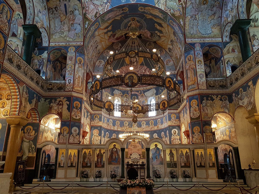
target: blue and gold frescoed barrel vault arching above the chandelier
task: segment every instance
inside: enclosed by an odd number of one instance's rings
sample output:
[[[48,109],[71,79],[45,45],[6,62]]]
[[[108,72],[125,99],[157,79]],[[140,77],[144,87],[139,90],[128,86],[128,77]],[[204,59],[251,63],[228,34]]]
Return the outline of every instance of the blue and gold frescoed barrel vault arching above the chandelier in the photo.
[[[147,14],[145,10],[150,12]],[[136,13],[137,12],[137,13]],[[117,6],[95,20],[85,36],[87,62],[94,70],[95,62],[113,43],[129,38],[128,26],[136,18],[139,38],[163,48],[178,66],[182,61],[184,36],[180,25],[163,10],[148,5]]]

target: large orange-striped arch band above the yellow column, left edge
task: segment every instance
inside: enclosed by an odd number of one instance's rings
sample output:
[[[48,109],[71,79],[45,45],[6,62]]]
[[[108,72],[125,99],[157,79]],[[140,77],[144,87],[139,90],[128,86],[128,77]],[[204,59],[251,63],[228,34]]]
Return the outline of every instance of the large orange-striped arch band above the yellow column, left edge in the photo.
[[[6,81],[11,93],[11,108],[9,115],[16,116],[19,114],[20,106],[20,92],[18,85],[14,78],[6,73],[2,73],[1,77]]]

